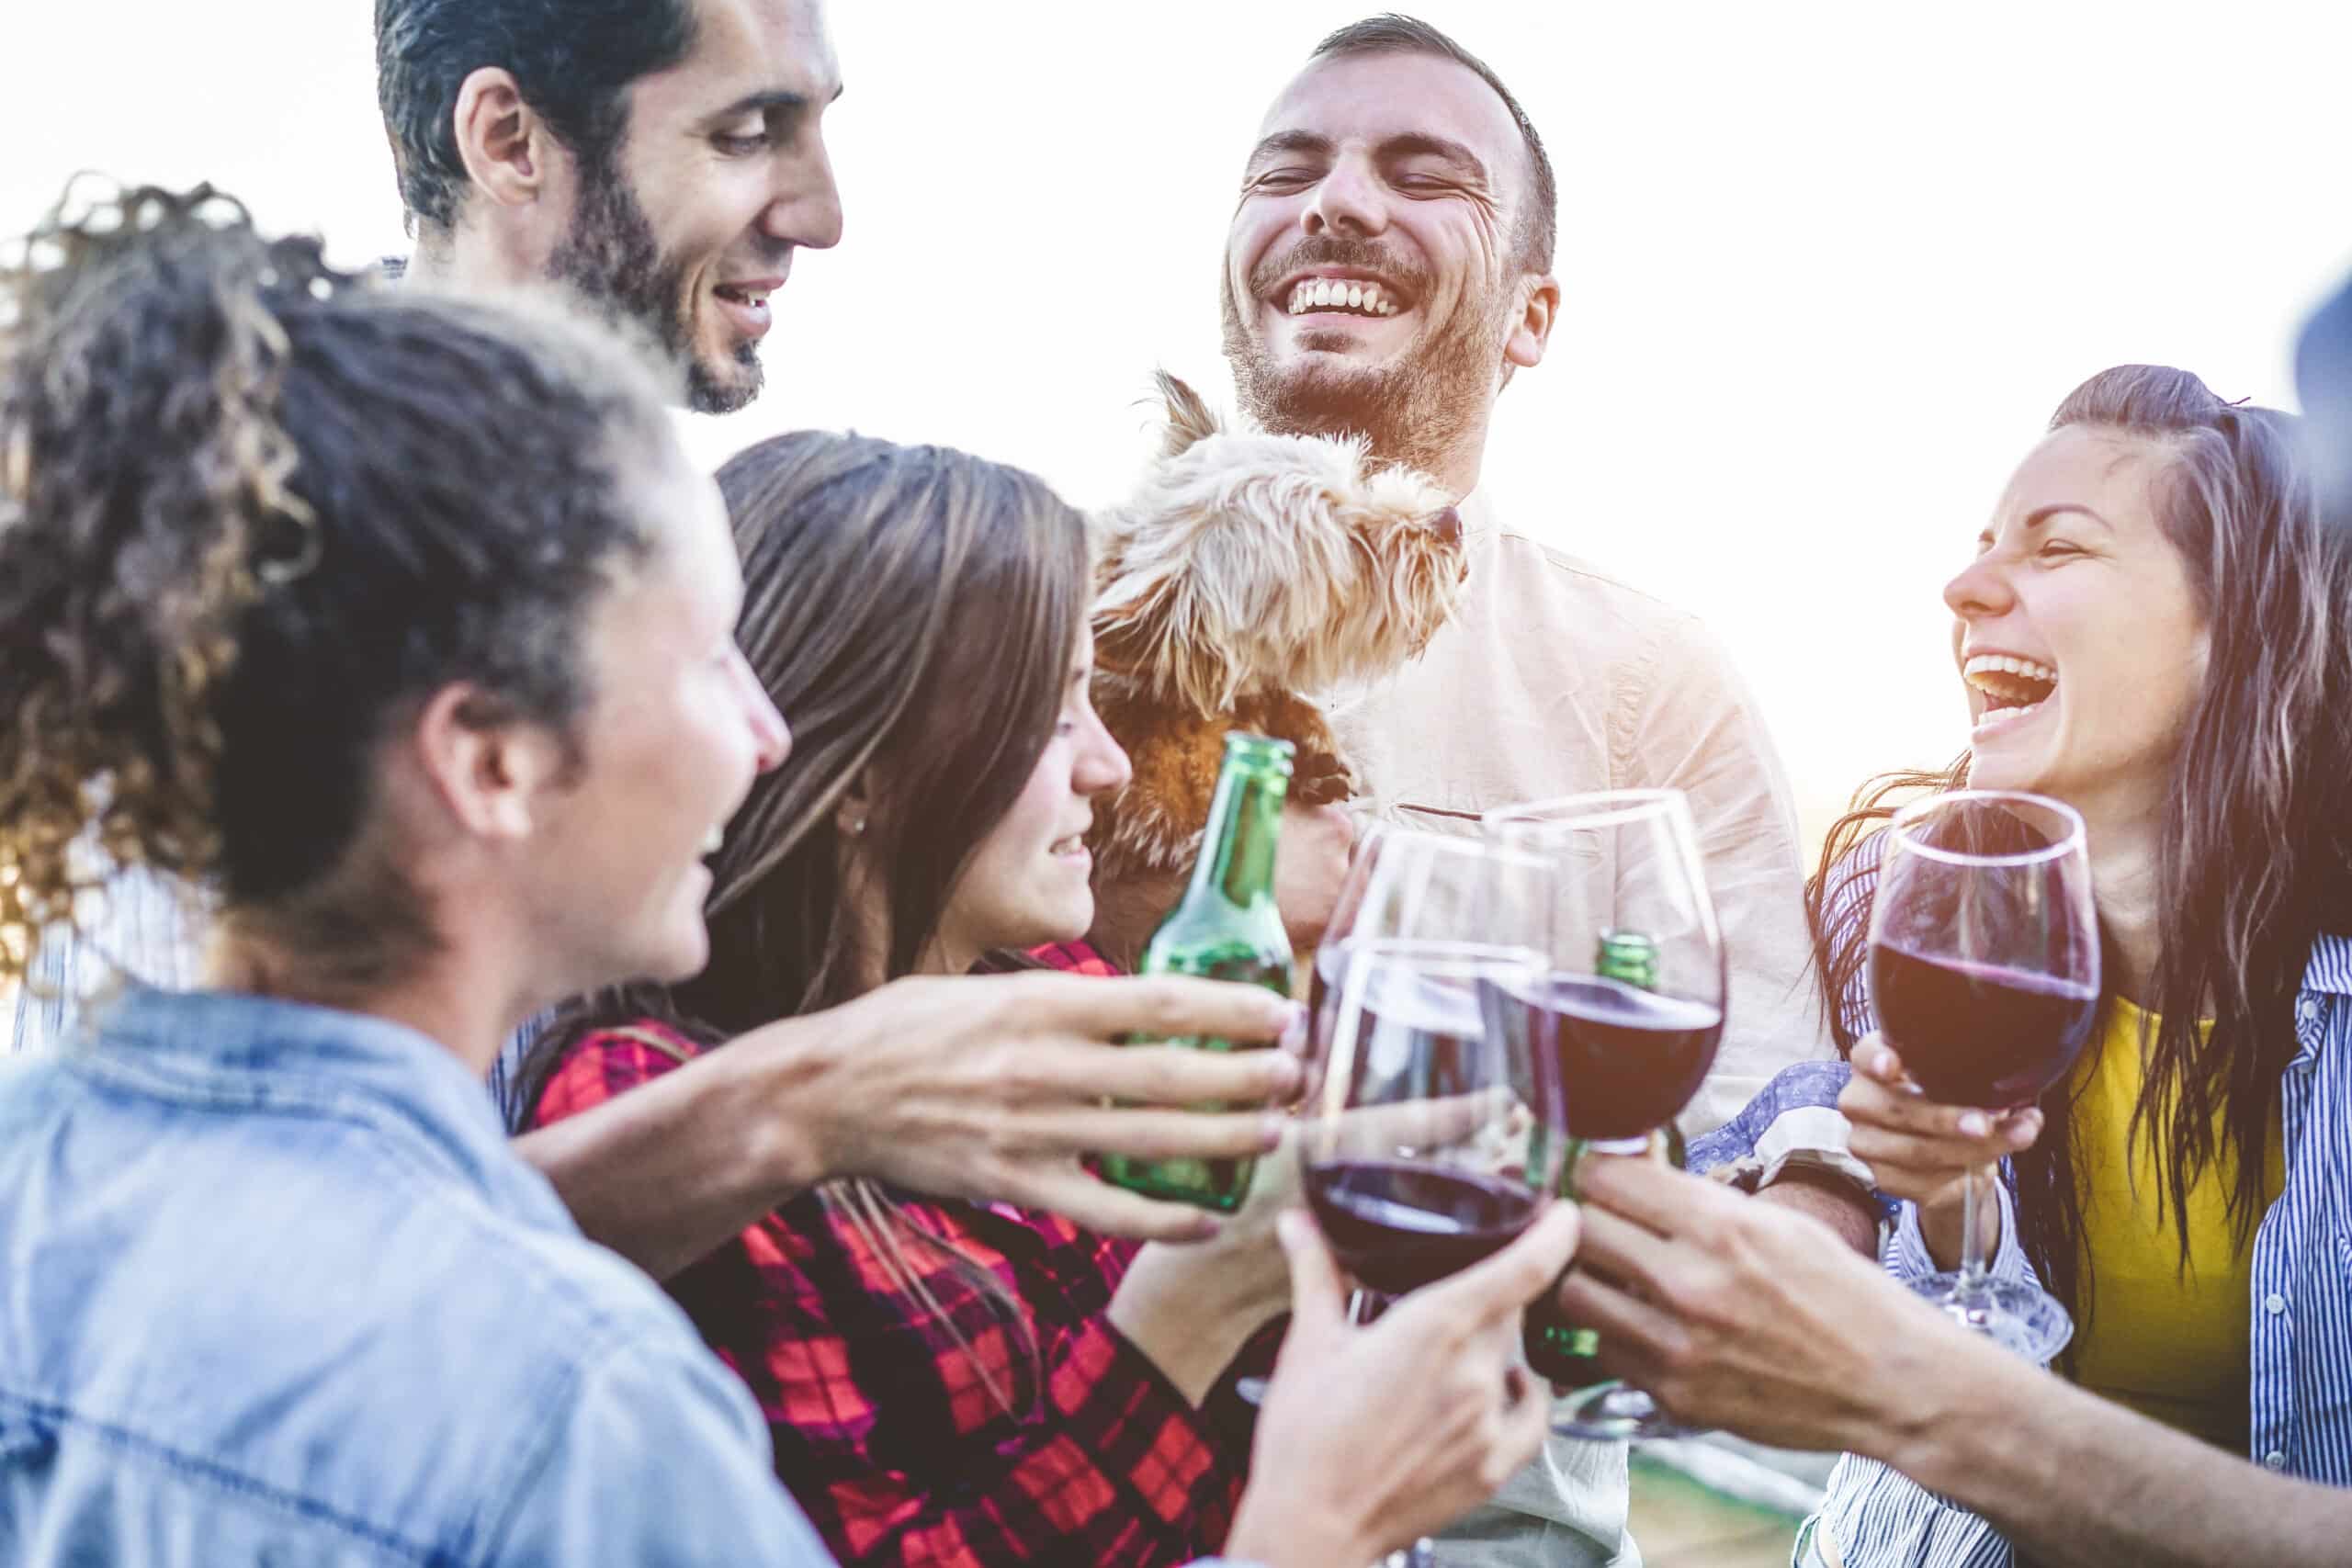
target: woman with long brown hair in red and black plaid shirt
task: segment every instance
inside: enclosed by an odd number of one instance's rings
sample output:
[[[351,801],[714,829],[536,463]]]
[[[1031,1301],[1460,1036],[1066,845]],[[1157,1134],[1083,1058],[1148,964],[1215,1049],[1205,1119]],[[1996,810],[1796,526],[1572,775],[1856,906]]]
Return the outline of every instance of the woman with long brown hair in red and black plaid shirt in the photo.
[[[713,860],[710,966],[557,1023],[524,1072],[536,1124],[771,1018],[1094,917],[1091,797],[1127,757],[1087,698],[1082,517],[1011,468],[814,433],[753,447],[720,489],[743,649],[793,715],[793,759]],[[1240,1495],[1244,1455],[1197,1406],[1287,1305],[1270,1211],[1136,1251],[835,1180],[670,1291],[847,1561],[1181,1563]]]

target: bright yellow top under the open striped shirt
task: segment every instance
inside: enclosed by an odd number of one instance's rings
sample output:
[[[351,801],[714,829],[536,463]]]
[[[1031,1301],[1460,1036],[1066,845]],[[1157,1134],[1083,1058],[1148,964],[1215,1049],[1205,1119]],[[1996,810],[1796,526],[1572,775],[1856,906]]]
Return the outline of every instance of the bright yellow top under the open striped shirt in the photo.
[[[2074,1338],[2074,1378],[2230,1453],[2246,1453],[2253,1354],[2253,1229],[2230,1227],[2237,1159],[2227,1150],[2190,1182],[2190,1267],[2143,1128],[2126,1150],[2157,1016],[2114,999],[2105,1039],[2074,1067],[2074,1173],[2084,1204],[2084,1279],[2096,1281]],[[2279,1114],[2263,1138],[2263,1204],[2286,1185]],[[2159,1199],[2164,1199],[2159,1204]],[[2161,1213],[2159,1213],[2161,1208]],[[2260,1225],[2260,1213],[2253,1215]]]

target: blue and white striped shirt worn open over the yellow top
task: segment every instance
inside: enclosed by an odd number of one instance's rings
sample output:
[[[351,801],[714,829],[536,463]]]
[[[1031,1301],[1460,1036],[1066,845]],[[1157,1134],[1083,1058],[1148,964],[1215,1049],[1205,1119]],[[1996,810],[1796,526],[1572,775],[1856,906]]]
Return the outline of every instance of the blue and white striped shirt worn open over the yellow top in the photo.
[[[2253,1234],[2251,1453],[2267,1469],[2352,1486],[2352,940],[2321,936],[2296,997],[2296,1056],[2279,1079],[2286,1187]],[[1886,1248],[1898,1279],[1931,1274],[1919,1218]],[[2002,1192],[1992,1272],[2030,1279]],[[1818,1533],[1818,1535],[1816,1535]],[[1825,1540],[1823,1540],[1825,1537]],[[2009,1568],[2009,1542],[1907,1476],[1846,1455],[1799,1563]]]

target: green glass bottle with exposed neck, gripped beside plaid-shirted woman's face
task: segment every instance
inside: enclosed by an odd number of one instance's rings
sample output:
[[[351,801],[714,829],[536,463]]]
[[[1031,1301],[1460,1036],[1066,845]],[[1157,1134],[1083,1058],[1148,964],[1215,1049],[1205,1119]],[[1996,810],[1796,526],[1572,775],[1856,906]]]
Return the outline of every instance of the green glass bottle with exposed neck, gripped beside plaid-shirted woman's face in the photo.
[[[1275,846],[1282,799],[1291,788],[1291,743],[1235,731],[1225,736],[1225,766],[1216,776],[1209,825],[1200,839],[1192,882],[1143,945],[1145,976],[1207,976],[1291,994],[1291,936],[1275,907]],[[1138,1037],[1131,1044],[1157,1044]],[[1228,1039],[1200,1034],[1167,1044],[1232,1051]],[[1197,1110],[1223,1110],[1202,1105]],[[1249,1194],[1256,1159],[1124,1159],[1103,1157],[1103,1178],[1155,1199],[1232,1213]]]

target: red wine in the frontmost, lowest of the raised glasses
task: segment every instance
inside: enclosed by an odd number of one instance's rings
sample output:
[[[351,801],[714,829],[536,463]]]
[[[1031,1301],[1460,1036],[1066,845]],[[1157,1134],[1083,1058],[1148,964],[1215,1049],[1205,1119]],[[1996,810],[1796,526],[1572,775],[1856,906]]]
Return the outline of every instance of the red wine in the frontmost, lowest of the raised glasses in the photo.
[[[1404,1295],[1468,1269],[1536,1218],[1524,1180],[1395,1159],[1308,1166],[1308,1206],[1331,1255],[1367,1291]]]

